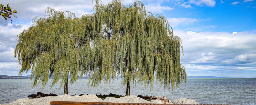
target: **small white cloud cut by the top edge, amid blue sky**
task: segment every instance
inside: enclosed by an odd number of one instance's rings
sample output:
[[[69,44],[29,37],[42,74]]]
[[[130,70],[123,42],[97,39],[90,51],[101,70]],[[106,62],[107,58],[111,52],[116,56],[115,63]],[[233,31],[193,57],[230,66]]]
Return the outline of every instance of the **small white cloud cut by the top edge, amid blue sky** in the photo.
[[[216,4],[215,0],[189,0],[189,3],[195,4],[196,6],[214,7]]]

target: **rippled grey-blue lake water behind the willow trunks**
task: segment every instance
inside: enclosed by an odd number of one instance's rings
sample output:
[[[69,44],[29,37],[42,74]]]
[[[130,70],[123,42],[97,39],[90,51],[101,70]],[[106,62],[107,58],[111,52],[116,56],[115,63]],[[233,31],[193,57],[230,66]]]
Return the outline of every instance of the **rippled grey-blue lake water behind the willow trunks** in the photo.
[[[120,85],[121,79],[109,84],[102,83],[93,88],[88,87],[88,79],[81,79],[73,85],[68,85],[68,94],[106,94],[125,95],[126,86]],[[41,87],[31,88],[29,79],[0,79],[0,104],[10,103],[19,98],[27,98],[30,94],[41,92]],[[61,95],[64,88],[58,90],[59,84],[50,89],[51,82],[42,91],[45,94]],[[177,89],[164,91],[157,83],[153,91],[143,86],[131,85],[131,95],[167,96],[170,100],[178,98],[193,99],[200,104],[256,104],[256,79],[188,79],[186,85]]]

